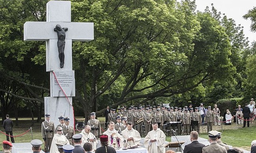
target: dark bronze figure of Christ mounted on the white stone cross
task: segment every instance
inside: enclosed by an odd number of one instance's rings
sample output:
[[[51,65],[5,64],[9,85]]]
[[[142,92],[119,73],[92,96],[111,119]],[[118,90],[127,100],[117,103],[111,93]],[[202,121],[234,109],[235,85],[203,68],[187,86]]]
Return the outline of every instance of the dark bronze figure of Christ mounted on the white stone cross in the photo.
[[[64,54],[65,39],[66,39],[65,31],[68,31],[68,28],[61,28],[61,25],[57,24],[56,27],[54,28],[54,31],[56,31],[58,35],[57,46],[58,46],[58,52],[59,52],[60,67],[63,68],[64,60],[65,60],[65,54]]]

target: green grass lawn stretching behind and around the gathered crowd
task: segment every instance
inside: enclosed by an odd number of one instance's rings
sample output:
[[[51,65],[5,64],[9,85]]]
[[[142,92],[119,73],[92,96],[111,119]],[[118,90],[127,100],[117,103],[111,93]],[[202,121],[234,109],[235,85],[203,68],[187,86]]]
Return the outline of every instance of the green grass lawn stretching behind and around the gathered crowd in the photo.
[[[43,118],[42,118],[43,119]],[[76,117],[77,120],[84,120],[82,117]],[[13,119],[12,119],[13,120]],[[98,117],[98,120],[101,122],[102,129],[104,129],[104,122],[105,117]],[[14,124],[15,124],[15,120]],[[256,139],[256,136],[254,135],[254,131],[256,131],[256,126],[254,126],[255,123],[250,124],[251,127],[241,128],[241,126],[238,127],[238,129],[235,129],[235,124],[231,126],[224,126],[223,125],[223,132],[222,132],[222,142],[227,143],[229,145],[232,145],[234,147],[243,148],[245,150],[250,150],[251,141]],[[25,131],[27,131],[31,127],[31,119],[30,118],[20,118],[19,119],[19,127],[14,126],[13,128],[13,135],[17,136],[20,134],[23,134]],[[220,127],[213,127],[214,130],[221,131],[220,129],[217,129]],[[0,130],[4,132],[3,127],[0,127]],[[5,132],[4,132],[5,133]],[[76,133],[80,133],[79,131],[76,131]],[[31,130],[27,132],[27,134],[24,134],[23,136],[15,137],[15,142],[30,142],[33,139],[39,139],[43,141],[42,135],[41,135],[41,122],[37,123],[35,122],[34,126],[32,126],[32,132]],[[208,135],[206,133],[199,135],[202,138],[208,139]],[[6,140],[6,136],[2,133],[0,133],[0,140]],[[170,136],[166,136],[166,141],[171,141]],[[44,146],[42,146],[44,148]],[[0,147],[0,151],[2,151],[2,147]]]

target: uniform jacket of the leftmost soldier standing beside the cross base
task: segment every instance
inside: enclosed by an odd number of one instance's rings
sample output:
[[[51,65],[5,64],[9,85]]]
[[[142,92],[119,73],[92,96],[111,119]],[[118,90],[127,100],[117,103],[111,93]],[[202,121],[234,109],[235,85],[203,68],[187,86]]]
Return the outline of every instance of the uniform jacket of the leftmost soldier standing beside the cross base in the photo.
[[[41,133],[43,138],[53,138],[55,134],[55,127],[54,127],[54,122],[47,121],[42,122],[41,124]]]

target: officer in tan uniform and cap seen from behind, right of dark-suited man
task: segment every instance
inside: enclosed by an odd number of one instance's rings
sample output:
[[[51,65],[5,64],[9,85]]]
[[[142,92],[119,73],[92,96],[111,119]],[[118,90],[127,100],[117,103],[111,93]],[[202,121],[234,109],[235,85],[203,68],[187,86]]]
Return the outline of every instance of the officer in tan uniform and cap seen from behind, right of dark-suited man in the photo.
[[[216,131],[208,132],[210,145],[202,148],[202,153],[227,153],[226,148],[217,143],[218,134]]]

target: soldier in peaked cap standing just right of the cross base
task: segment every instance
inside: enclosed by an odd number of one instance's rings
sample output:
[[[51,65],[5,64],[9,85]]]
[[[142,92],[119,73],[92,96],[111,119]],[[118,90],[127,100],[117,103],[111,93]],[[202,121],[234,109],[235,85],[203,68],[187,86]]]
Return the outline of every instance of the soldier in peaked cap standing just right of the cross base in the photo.
[[[90,113],[91,119],[88,120],[87,125],[91,127],[91,133],[98,138],[101,135],[101,128],[100,128],[100,121],[95,119],[96,114],[95,112]]]

